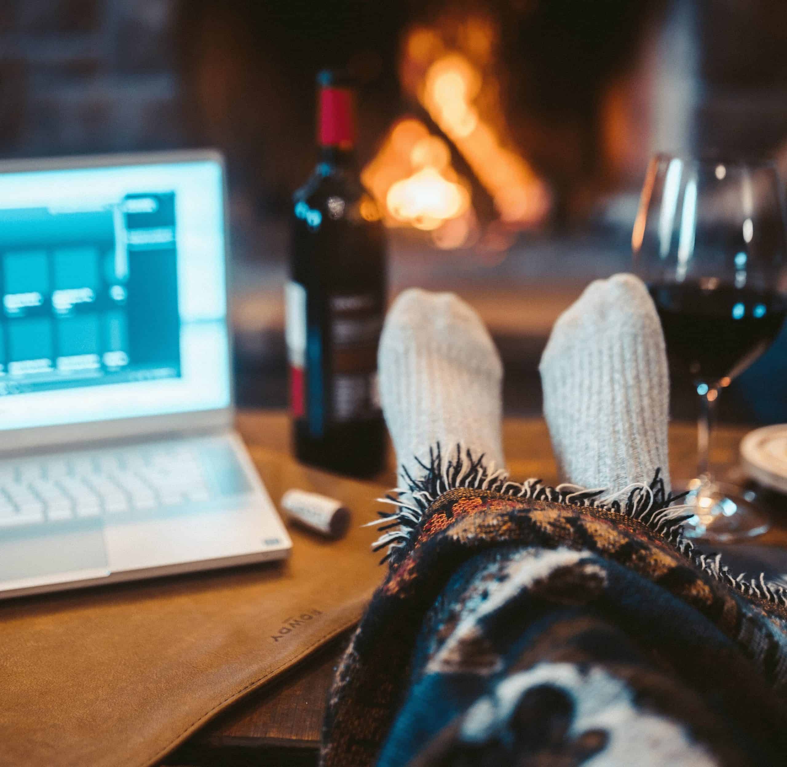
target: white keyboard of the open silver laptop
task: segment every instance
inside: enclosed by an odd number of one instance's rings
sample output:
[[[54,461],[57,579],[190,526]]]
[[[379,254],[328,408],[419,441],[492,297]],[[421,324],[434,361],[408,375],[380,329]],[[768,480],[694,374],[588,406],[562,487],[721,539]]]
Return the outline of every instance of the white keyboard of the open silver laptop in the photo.
[[[221,437],[0,461],[0,529],[190,508],[250,489]]]

